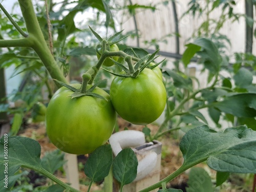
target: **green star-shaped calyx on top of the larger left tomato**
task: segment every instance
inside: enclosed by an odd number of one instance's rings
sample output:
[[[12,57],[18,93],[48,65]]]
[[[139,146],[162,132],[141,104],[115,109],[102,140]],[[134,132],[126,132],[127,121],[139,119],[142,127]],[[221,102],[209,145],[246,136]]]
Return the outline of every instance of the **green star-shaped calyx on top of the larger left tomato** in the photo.
[[[64,86],[66,88],[68,88],[69,90],[73,91],[74,93],[72,95],[70,95],[70,97],[73,98],[79,98],[79,97],[83,97],[83,96],[93,96],[93,97],[97,97],[103,100],[108,101],[108,99],[104,98],[103,96],[97,94],[97,93],[93,93],[93,90],[102,82],[106,81],[107,79],[103,79],[97,83],[95,83],[89,90],[87,90],[86,92],[81,92],[82,89],[76,89],[72,86],[70,86],[69,84],[63,83],[61,81],[58,81],[57,79],[53,79],[55,80],[57,83],[61,84],[61,86]]]

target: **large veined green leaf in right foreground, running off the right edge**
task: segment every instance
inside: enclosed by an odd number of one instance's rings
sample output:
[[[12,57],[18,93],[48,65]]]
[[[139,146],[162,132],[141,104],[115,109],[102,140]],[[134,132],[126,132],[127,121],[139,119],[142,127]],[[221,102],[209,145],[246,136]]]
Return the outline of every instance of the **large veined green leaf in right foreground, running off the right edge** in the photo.
[[[256,132],[246,126],[210,133],[207,125],[188,131],[180,142],[184,166],[207,160],[219,172],[256,173]]]

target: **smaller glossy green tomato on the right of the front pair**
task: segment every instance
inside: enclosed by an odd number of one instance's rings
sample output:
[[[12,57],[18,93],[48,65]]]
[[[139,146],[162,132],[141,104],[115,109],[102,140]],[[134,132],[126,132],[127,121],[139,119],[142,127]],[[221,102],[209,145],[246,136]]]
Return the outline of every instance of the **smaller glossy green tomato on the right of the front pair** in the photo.
[[[148,124],[162,114],[166,91],[162,80],[146,68],[137,78],[115,77],[110,87],[110,98],[123,119],[133,124]]]

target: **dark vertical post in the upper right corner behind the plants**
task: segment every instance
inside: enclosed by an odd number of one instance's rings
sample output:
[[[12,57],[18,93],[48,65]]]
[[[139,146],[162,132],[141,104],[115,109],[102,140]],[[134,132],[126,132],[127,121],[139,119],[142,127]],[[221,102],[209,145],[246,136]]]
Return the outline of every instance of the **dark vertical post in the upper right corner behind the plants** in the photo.
[[[245,14],[247,17],[253,18],[253,3],[252,0],[245,0]],[[245,52],[252,53],[252,40],[253,40],[253,23],[251,26],[246,24],[245,36]]]

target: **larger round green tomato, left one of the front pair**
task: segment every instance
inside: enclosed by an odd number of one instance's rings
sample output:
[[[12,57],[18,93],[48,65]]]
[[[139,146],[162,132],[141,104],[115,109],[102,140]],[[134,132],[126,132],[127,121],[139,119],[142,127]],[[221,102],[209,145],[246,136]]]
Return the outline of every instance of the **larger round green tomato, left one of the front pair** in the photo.
[[[79,89],[81,84],[71,86]],[[93,93],[108,101],[93,96],[72,99],[72,93],[62,87],[53,95],[46,112],[46,131],[61,151],[88,154],[108,141],[116,123],[116,112],[109,94],[100,88],[95,88]]]

